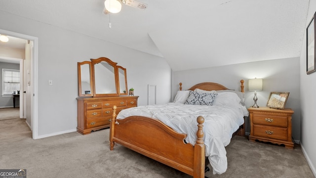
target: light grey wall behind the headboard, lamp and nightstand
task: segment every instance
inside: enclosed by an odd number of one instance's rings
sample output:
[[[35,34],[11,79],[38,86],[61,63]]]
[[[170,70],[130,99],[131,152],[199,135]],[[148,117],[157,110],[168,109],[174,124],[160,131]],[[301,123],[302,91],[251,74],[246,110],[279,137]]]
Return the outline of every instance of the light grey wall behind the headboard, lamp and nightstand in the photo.
[[[263,90],[257,91],[259,106],[266,106],[270,92],[288,91],[290,95],[285,107],[292,108],[292,136],[299,142],[300,140],[300,77],[299,58],[286,58],[277,60],[267,60],[260,62],[250,62],[242,64],[227,65],[196,70],[186,70],[174,72],[173,74],[173,94],[179,89],[182,82],[182,89],[189,89],[193,85],[201,82],[215,82],[222,84],[229,89],[240,91],[240,80],[244,80],[244,91],[246,94],[246,107],[252,106],[253,91],[248,91],[248,79],[262,78]],[[246,132],[249,133],[249,124],[246,121]]]

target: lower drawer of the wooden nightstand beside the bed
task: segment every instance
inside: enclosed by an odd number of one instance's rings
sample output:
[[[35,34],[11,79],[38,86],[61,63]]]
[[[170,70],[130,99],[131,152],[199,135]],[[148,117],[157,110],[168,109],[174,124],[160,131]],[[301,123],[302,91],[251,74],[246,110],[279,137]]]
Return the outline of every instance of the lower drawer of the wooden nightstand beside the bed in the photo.
[[[253,135],[287,140],[287,128],[253,125]]]

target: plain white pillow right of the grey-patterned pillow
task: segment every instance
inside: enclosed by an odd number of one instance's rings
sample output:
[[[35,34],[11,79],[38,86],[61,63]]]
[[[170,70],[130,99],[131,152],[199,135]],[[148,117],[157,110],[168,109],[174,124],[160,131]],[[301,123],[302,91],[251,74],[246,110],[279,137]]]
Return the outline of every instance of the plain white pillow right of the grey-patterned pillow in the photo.
[[[240,98],[234,92],[218,92],[213,105],[239,105]]]

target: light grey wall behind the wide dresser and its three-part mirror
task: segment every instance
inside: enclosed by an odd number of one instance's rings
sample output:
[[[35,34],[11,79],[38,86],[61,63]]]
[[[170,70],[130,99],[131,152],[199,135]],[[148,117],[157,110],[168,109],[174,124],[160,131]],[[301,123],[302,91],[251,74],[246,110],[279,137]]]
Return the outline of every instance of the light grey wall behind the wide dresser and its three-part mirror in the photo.
[[[140,96],[138,105],[147,104],[148,84],[157,85],[158,103],[170,100],[171,69],[161,57],[3,11],[0,22],[0,29],[39,39],[39,93],[35,93],[39,98],[39,137],[76,131],[77,62],[90,58],[108,57],[126,68],[128,88]],[[53,81],[52,86],[48,80]]]

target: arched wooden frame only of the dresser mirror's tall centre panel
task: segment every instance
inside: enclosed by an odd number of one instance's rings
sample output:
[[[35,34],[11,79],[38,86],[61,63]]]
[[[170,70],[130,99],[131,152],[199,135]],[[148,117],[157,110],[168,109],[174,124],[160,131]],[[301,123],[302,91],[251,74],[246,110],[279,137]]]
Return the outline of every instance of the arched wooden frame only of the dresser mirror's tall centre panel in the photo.
[[[116,89],[116,93],[96,93],[96,88],[95,88],[95,65],[99,64],[100,62],[105,61],[107,62],[109,65],[111,65],[114,69],[114,78],[115,78],[115,89]],[[98,59],[91,59],[91,63],[92,63],[92,79],[93,79],[93,90],[94,90],[94,94],[93,96],[95,97],[105,97],[105,96],[118,96],[119,95],[119,86],[118,86],[118,69],[117,69],[117,64],[116,62],[113,62],[111,59],[106,58],[106,57],[100,57]]]

